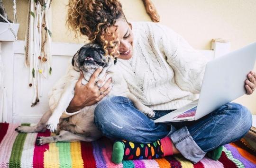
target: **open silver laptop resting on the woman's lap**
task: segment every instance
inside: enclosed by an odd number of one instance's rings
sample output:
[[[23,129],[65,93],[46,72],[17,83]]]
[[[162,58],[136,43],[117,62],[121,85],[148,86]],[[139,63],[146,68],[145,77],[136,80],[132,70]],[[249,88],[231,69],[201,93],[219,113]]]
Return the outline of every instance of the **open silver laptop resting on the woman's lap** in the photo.
[[[246,93],[247,74],[256,61],[256,42],[211,60],[205,67],[198,100],[155,120],[155,123],[197,120]]]

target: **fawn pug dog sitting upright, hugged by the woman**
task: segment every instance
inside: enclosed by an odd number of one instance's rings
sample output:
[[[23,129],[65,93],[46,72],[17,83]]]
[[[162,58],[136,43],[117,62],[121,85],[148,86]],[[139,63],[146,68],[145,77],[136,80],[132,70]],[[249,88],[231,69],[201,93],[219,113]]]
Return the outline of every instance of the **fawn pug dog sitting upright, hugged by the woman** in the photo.
[[[37,145],[71,141],[91,142],[99,139],[102,134],[93,123],[93,118],[94,109],[101,101],[94,105],[86,106],[75,113],[67,113],[65,111],[73,99],[75,84],[80,77],[79,72],[82,71],[84,76],[82,84],[87,84],[91,75],[99,67],[103,69],[96,80],[96,84],[104,76],[106,76],[105,81],[109,78],[112,79],[112,89],[103,99],[110,96],[127,97],[139,111],[151,118],[154,117],[155,112],[138,101],[129,92],[127,83],[119,73],[117,66],[115,66],[116,61],[110,56],[105,56],[103,48],[98,44],[88,43],[82,46],[73,56],[72,65],[69,65],[66,75],[50,91],[50,110],[43,115],[36,126],[18,126],[16,131],[22,133],[44,132],[48,128],[51,132],[58,134],[50,137],[38,137]]]

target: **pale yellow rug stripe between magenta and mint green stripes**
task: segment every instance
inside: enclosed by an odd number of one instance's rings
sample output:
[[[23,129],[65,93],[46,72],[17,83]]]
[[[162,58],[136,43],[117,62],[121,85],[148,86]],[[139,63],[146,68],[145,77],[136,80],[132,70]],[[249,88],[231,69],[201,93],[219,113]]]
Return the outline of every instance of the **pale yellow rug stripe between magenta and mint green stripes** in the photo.
[[[51,136],[54,136],[54,133],[51,133]],[[59,148],[56,146],[56,143],[49,143],[49,150],[44,153],[44,168],[59,168]]]

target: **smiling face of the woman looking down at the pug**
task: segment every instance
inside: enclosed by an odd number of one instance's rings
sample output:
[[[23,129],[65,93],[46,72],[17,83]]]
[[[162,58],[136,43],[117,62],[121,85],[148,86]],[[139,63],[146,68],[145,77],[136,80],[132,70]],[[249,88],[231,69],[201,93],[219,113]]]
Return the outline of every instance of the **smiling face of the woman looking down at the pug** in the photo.
[[[114,40],[113,43],[119,46],[117,50],[119,51],[119,59],[130,59],[133,53],[133,33],[132,27],[124,19],[120,18],[116,21],[115,26],[110,27],[110,32],[113,34],[119,34],[118,39]],[[105,37],[106,40],[110,39],[108,36]],[[109,53],[113,48],[109,47]]]

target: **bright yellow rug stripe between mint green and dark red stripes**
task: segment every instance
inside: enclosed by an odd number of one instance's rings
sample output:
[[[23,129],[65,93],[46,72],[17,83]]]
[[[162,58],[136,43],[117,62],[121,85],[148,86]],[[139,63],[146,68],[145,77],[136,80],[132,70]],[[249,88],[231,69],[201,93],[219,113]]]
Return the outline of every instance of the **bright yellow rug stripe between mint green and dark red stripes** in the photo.
[[[72,159],[72,168],[82,168],[83,160],[82,160],[81,143],[80,142],[70,143],[70,153],[71,153],[71,159]]]

